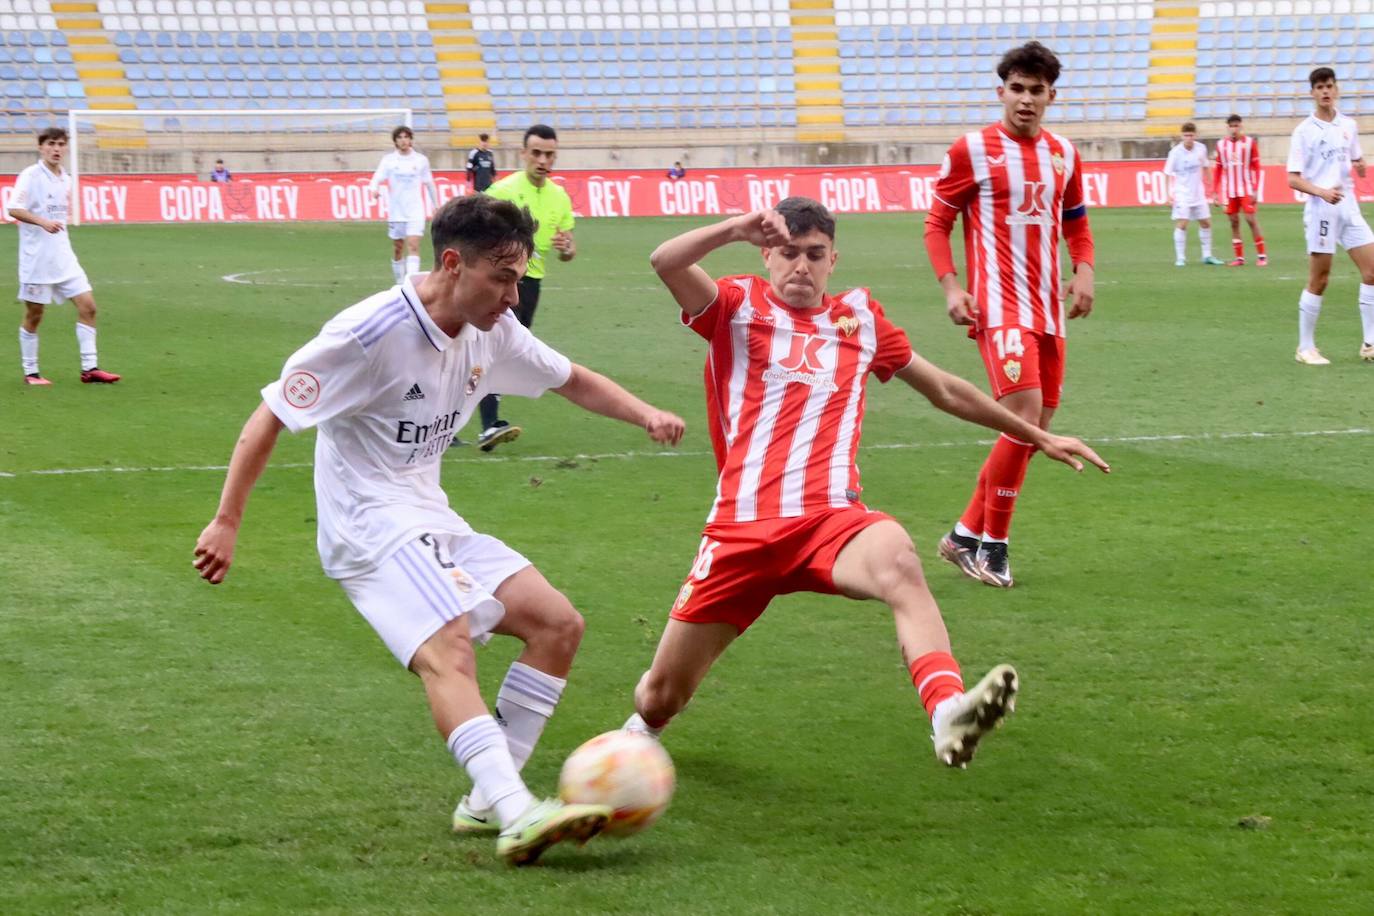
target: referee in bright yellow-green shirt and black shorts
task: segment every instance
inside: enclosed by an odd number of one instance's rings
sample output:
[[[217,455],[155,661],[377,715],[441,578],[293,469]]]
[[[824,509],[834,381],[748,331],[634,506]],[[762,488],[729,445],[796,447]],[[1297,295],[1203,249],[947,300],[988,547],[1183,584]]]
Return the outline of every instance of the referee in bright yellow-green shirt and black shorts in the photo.
[[[559,261],[572,261],[577,255],[573,243],[573,202],[567,191],[548,180],[558,159],[558,135],[547,124],[536,124],[525,132],[521,148],[525,168],[513,172],[486,188],[485,194],[517,206],[529,209],[539,222],[534,231],[534,253],[529,255],[529,268],[519,282],[519,305],[515,317],[525,327],[534,323],[534,309],[539,306],[539,286],[544,279],[545,260],[550,249],[558,251]],[[488,394],[481,404],[482,433],[477,445],[491,452],[502,442],[510,442],[519,435],[519,427],[500,419],[500,396]]]

